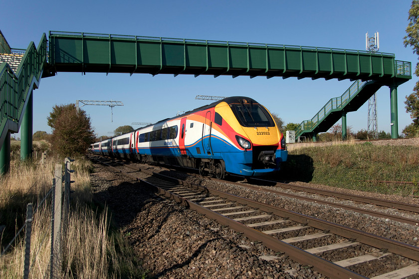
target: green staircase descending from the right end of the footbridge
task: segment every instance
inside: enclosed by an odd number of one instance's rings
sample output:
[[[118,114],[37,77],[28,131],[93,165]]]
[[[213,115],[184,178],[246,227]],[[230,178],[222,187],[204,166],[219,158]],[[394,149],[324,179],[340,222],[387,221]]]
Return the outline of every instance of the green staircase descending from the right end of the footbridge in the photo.
[[[295,137],[312,137],[327,132],[342,113],[357,111],[381,87],[382,84],[375,81],[355,81],[342,96],[330,99],[312,119],[303,121],[295,129]]]

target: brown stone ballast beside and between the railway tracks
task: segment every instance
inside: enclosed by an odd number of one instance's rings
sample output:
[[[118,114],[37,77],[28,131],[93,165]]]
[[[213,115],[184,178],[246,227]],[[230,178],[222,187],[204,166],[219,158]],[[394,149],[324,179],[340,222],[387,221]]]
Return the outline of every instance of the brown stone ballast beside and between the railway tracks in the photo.
[[[283,253],[275,253],[228,227],[166,200],[149,186],[95,166],[96,172],[91,175],[95,200],[107,204],[112,210],[114,220],[143,260],[143,268],[149,271],[151,278],[325,278]],[[417,226],[246,187],[188,177],[159,167],[154,171],[166,175],[170,173],[196,184],[419,245]],[[313,185],[310,184],[310,187]],[[333,255],[329,257],[333,258]],[[410,261],[403,263],[408,264]]]

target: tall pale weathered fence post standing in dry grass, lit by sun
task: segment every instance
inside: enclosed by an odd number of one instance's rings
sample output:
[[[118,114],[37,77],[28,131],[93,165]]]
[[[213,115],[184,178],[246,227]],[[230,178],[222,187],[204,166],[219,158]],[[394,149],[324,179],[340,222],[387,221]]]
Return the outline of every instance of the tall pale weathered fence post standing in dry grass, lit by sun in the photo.
[[[62,166],[61,164],[55,165],[55,204],[54,204],[54,247],[53,251],[52,267],[51,267],[51,279],[61,278],[61,212],[62,212]]]

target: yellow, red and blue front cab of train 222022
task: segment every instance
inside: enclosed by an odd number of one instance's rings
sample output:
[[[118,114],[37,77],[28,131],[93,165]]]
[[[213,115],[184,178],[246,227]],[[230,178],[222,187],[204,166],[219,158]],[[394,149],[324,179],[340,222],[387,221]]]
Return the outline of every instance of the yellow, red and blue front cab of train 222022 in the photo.
[[[288,156],[285,139],[263,106],[252,99],[239,98],[229,104],[220,103],[214,110],[222,120],[214,120],[211,147],[214,152],[219,150],[226,172],[260,176],[280,169]],[[217,131],[225,133],[234,147],[215,140]]]

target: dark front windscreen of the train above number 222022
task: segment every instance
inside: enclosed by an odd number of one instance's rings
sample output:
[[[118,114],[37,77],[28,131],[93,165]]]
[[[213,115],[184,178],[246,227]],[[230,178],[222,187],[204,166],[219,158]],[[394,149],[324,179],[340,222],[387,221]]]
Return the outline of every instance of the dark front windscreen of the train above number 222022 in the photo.
[[[253,102],[231,104],[231,110],[241,126],[274,127],[275,123],[264,107]]]

